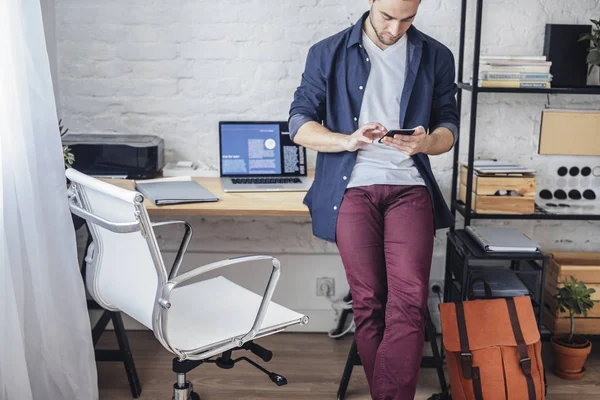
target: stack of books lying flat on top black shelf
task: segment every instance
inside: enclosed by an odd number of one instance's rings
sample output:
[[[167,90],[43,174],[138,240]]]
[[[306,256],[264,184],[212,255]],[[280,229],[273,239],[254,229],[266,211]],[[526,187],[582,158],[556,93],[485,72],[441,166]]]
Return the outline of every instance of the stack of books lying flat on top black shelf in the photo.
[[[478,84],[488,88],[550,88],[551,66],[546,56],[482,56]]]

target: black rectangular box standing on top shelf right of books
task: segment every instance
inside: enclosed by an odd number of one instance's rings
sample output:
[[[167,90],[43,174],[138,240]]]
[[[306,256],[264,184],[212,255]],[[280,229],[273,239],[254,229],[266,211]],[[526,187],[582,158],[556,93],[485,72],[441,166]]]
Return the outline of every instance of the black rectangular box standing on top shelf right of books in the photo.
[[[587,83],[589,41],[579,38],[592,33],[591,25],[546,24],[544,55],[552,61],[553,87],[584,88]]]

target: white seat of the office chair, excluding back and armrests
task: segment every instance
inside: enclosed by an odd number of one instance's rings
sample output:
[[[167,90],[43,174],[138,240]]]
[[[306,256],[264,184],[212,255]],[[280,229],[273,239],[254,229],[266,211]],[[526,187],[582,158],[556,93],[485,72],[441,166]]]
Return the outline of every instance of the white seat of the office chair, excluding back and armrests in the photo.
[[[176,288],[167,323],[169,342],[178,350],[194,350],[245,335],[261,301],[262,296],[222,276]],[[303,317],[271,302],[257,337],[297,324]]]

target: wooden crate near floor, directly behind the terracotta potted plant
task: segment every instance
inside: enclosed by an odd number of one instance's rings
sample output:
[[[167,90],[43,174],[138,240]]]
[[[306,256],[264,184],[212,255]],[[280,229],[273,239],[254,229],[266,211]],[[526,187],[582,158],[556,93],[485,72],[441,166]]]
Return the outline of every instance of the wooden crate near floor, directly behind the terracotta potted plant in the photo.
[[[593,288],[592,300],[600,300],[600,253],[554,252],[549,253],[544,293],[544,324],[554,333],[569,332],[569,314],[561,313],[553,295],[563,286],[565,279],[573,276]],[[600,303],[586,317],[576,317],[575,332],[587,335],[600,334]]]

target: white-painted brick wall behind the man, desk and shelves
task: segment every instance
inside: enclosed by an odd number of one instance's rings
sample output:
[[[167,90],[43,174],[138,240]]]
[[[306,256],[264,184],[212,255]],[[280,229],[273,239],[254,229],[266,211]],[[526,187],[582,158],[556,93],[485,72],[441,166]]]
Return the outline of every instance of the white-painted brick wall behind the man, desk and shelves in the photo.
[[[207,171],[218,169],[218,121],[286,119],[309,46],[354,23],[368,7],[366,0],[55,1],[60,115],[66,126],[75,133],[160,135],[168,160],[197,159]],[[485,3],[482,54],[542,54],[545,23],[587,23],[600,13],[600,0]],[[425,0],[416,20],[417,27],[456,56],[459,6],[459,1]],[[469,21],[472,37],[472,9]],[[470,61],[472,53],[467,56]],[[465,136],[469,99],[466,94]],[[553,107],[600,108],[597,97],[553,95],[549,100]],[[598,158],[535,154],[547,102],[544,95],[482,95],[478,155],[536,167],[540,184],[551,184],[545,176],[559,163],[600,165]],[[463,160],[466,149],[463,143]],[[432,162],[449,196],[451,155],[433,157]],[[572,183],[600,188],[600,179]],[[282,255],[287,261],[283,274],[294,276],[294,282],[278,291],[278,300],[311,315],[332,317],[329,305],[314,297],[315,279],[335,276],[341,289],[343,270],[335,247],[312,237],[307,218],[210,217],[192,222],[195,254],[187,267],[215,256]],[[597,223],[515,225],[547,249],[592,250],[600,243]],[[438,232],[436,238],[433,279],[443,277],[445,233]],[[161,244],[175,251],[175,232],[164,233]],[[325,330],[333,321],[311,325]]]

